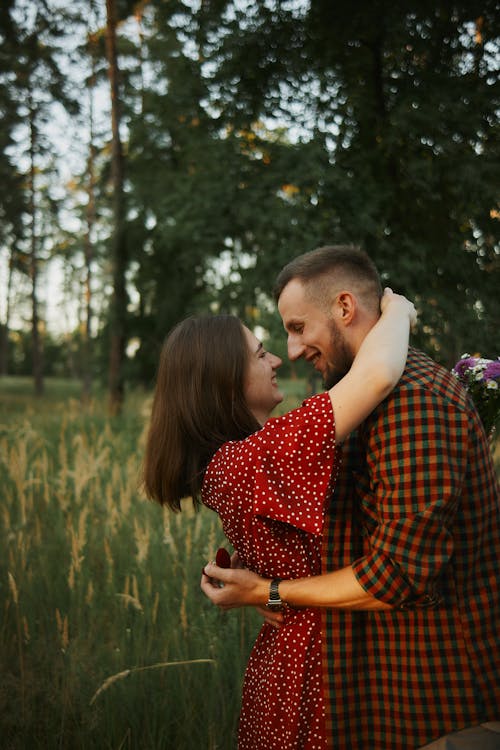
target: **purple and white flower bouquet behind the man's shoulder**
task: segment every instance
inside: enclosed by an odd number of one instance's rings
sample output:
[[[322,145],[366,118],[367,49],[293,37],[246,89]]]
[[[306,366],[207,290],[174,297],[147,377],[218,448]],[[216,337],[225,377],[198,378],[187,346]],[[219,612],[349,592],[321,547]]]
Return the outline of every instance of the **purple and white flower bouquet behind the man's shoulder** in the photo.
[[[500,421],[500,357],[493,360],[463,354],[452,373],[469,392],[491,437]]]

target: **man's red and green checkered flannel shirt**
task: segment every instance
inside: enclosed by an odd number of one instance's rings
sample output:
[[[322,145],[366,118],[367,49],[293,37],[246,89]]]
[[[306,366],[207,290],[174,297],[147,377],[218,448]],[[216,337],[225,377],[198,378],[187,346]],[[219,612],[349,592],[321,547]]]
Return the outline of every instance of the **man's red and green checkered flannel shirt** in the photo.
[[[468,396],[410,350],[343,454],[323,570],[352,564],[395,609],[323,614],[331,746],[414,750],[499,720],[499,488]]]

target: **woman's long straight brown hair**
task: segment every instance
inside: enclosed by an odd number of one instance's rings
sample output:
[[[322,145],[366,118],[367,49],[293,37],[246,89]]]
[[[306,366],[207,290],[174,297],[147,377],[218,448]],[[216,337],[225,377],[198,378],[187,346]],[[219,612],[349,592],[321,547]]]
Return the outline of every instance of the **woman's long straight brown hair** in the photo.
[[[220,446],[260,428],[243,393],[249,357],[232,315],[191,317],[168,335],[160,355],[144,459],[144,487],[172,510],[195,507],[205,469]]]

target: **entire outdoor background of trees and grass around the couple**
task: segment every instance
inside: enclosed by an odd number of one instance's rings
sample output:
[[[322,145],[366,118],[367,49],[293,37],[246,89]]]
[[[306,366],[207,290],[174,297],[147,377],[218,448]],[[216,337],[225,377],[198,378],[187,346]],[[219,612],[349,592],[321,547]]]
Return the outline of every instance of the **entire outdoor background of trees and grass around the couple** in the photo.
[[[215,514],[142,496],[161,342],[240,315],[292,408],[274,278],[347,242],[496,358],[500,5],[2,0],[0,40],[0,745],[234,750],[260,619],[199,590]]]

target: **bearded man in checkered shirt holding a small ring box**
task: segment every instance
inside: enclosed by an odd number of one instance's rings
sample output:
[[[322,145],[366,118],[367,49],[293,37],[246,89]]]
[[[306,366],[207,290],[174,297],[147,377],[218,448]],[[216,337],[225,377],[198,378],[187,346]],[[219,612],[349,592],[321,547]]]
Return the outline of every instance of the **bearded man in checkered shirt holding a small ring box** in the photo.
[[[290,359],[331,387],[377,320],[380,293],[359,249],[293,260],[276,292]],[[343,453],[324,534],[332,572],[274,582],[270,596],[270,581],[209,565],[204,592],[223,608],[273,598],[324,608],[333,747],[500,748],[499,492],[475,409],[450,373],[410,350],[399,385]]]

